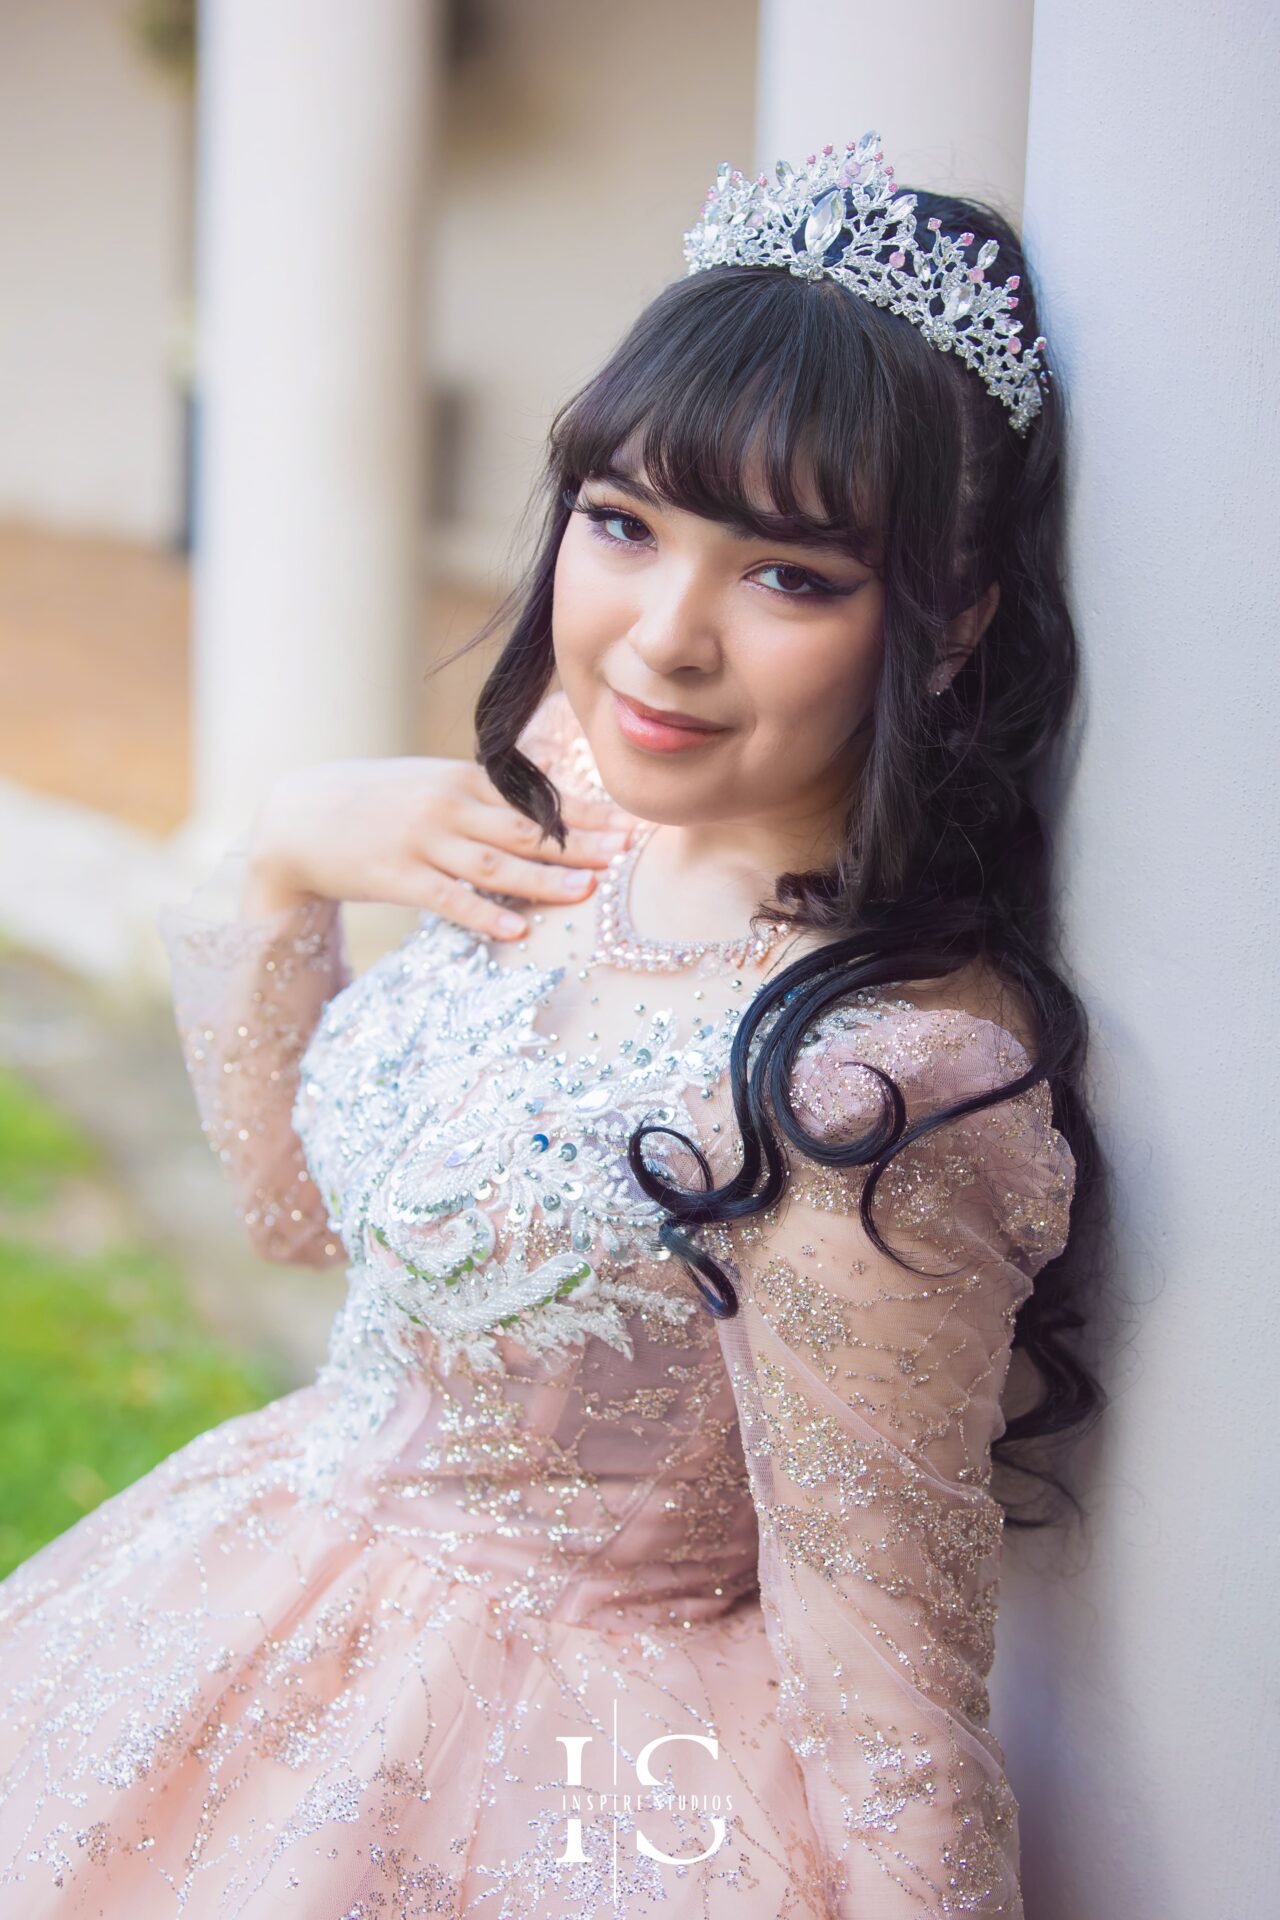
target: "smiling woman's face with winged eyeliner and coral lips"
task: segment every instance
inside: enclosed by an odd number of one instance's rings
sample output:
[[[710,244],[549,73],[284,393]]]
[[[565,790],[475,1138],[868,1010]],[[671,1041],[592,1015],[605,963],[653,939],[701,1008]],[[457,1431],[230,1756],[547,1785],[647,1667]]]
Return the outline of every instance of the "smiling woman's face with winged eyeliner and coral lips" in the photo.
[[[831,547],[658,505],[626,455],[620,472],[626,484],[581,484],[591,515],[570,515],[555,572],[557,666],[601,780],[645,820],[827,849],[865,751],[879,578]],[[628,718],[620,695],[718,732],[677,745]]]

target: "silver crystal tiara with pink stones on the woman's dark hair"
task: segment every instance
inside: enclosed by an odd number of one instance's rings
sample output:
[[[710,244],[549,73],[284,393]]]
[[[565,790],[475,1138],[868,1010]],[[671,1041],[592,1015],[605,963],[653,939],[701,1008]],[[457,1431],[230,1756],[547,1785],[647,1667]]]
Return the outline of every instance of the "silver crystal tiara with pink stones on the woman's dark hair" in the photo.
[[[777,186],[762,173],[748,180],[727,161],[706,190],[699,221],[685,234],[689,273],[706,267],[787,267],[802,280],[823,275],[877,307],[902,313],[942,353],[958,353],[990,394],[1009,409],[1017,434],[1040,411],[1052,374],[1036,334],[1023,349],[1017,307],[1019,276],[986,284],[1000,252],[983,240],[973,263],[963,250],[973,234],[950,240],[929,221],[933,246],[915,240],[915,194],[898,194],[881,136],[864,132],[842,154],[823,146],[808,171],[777,161]],[[885,255],[887,257],[881,257]]]

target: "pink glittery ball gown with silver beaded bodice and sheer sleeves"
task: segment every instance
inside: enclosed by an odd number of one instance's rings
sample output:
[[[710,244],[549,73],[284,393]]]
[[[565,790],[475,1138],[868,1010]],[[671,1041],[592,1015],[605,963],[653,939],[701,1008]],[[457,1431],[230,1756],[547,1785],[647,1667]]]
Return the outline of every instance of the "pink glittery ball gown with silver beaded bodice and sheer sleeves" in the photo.
[[[528,737],[599,781],[562,695]],[[6,1920],[1021,1916],[990,1444],[1067,1238],[1048,1089],[881,1179],[923,1275],[867,1238],[865,1169],[793,1154],[771,1213],[706,1236],[716,1321],[626,1139],[656,1117],[735,1169],[758,979],[645,948],[626,887],[597,945],[591,910],[524,950],[422,914],[355,979],[330,902],[165,912],[246,1227],[349,1292],[315,1382],[0,1584]],[[1027,1054],[864,991],[808,1031],[798,1117],[864,1129],[869,1066],[913,1119]]]

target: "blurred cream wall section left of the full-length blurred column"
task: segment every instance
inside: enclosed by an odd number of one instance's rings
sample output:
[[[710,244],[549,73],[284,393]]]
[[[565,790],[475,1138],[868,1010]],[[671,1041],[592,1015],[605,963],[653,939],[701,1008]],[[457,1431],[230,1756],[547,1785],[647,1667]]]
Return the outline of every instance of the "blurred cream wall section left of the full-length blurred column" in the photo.
[[[186,119],[129,12],[0,6],[0,515],[165,540]]]

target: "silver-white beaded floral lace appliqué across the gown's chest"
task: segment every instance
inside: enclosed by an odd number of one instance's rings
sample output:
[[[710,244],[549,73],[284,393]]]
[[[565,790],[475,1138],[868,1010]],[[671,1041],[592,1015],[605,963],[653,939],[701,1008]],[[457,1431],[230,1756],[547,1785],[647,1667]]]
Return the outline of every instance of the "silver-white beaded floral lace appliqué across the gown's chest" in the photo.
[[[652,1279],[670,1260],[664,1215],[626,1142],[641,1112],[695,1135],[685,1089],[725,1069],[741,1014],[681,1039],[658,1010],[612,1060],[570,1060],[533,1025],[562,977],[503,968],[422,916],[330,1002],[301,1060],[292,1117],[363,1269],[361,1340],[380,1321],[405,1363],[420,1363],[420,1329],[443,1369],[501,1367],[499,1331],[549,1361],[589,1336],[629,1357],[629,1315],[697,1311],[687,1284]],[[662,1144],[649,1158],[670,1164]]]

